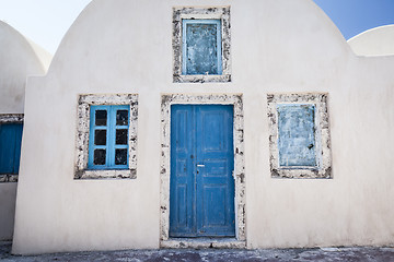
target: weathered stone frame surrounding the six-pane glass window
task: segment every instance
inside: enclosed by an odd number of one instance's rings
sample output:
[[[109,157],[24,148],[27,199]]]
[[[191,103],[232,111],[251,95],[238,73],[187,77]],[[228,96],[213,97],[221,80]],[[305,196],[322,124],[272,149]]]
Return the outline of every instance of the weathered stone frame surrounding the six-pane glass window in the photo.
[[[129,105],[129,159],[128,169],[88,169],[90,106],[92,105]],[[104,179],[104,178],[137,178],[137,123],[138,95],[137,94],[86,94],[79,95],[77,123],[77,158],[74,179]]]

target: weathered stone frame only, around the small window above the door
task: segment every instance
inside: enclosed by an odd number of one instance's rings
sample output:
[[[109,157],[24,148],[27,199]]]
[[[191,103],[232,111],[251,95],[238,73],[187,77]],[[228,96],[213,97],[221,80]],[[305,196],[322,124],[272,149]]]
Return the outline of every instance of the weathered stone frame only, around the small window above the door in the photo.
[[[222,74],[182,74],[182,20],[221,20]],[[173,8],[173,81],[174,83],[231,82],[230,7]]]

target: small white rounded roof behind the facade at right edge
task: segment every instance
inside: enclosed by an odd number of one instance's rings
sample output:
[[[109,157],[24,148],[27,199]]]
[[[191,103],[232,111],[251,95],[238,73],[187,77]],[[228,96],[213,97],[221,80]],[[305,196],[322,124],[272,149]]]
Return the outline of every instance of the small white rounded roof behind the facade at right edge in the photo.
[[[358,56],[393,56],[394,25],[366,31],[349,39],[348,43]]]

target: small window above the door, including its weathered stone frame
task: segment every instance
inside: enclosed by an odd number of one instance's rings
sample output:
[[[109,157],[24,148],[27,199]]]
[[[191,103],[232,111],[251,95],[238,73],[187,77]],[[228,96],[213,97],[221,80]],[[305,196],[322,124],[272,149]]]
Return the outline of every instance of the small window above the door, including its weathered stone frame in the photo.
[[[174,82],[230,82],[230,8],[174,8]]]

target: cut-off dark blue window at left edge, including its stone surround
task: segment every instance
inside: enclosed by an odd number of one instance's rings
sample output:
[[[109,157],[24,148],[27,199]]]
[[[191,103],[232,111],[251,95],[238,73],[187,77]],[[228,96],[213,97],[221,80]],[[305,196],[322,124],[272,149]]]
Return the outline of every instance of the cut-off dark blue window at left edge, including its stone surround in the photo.
[[[23,115],[0,115],[0,182],[16,182],[21,158]]]

